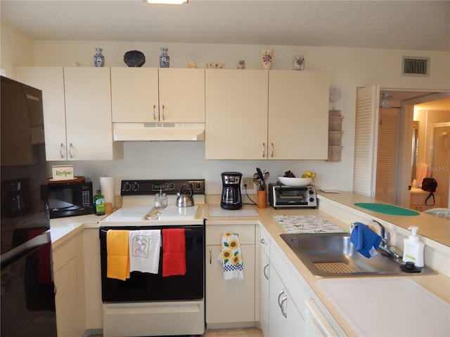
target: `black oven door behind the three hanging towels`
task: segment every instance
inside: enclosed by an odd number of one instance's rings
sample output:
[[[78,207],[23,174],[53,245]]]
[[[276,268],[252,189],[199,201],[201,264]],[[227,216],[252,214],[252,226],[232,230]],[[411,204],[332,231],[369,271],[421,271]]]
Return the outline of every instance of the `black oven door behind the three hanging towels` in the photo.
[[[131,272],[126,281],[106,277],[106,233],[108,230],[163,230],[184,228],[186,235],[186,275],[162,277],[162,248],[158,274]],[[103,303],[154,300],[196,300],[204,296],[205,225],[148,227],[101,227],[101,284]]]

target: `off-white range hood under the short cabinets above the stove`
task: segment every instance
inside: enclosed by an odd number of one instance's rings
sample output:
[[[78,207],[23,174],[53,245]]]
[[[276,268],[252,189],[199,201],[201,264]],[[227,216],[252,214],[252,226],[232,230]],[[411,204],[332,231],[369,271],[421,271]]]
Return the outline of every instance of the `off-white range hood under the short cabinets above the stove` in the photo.
[[[204,141],[205,123],[113,123],[113,140]]]

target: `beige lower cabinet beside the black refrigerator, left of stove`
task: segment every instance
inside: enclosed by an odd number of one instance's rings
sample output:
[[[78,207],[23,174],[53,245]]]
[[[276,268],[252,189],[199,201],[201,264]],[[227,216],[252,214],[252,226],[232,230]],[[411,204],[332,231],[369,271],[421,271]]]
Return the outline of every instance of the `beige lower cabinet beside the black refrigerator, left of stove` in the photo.
[[[52,253],[58,336],[83,336],[86,304],[82,232],[57,246]]]

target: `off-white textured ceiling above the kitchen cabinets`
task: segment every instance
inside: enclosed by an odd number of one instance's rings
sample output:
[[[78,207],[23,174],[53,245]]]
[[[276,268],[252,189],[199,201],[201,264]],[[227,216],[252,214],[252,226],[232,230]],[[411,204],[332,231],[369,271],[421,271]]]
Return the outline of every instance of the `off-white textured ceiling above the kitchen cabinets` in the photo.
[[[1,0],[32,39],[450,51],[450,1]]]

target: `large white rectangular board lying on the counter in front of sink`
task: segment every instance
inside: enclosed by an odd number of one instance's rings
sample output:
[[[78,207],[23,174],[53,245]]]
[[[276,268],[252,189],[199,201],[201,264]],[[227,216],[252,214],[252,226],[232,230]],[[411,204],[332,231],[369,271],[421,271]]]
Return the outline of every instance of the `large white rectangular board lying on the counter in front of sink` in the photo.
[[[449,334],[449,303],[411,279],[338,278],[320,279],[316,284],[357,336]],[[377,324],[373,324],[375,317]]]

